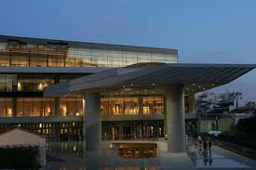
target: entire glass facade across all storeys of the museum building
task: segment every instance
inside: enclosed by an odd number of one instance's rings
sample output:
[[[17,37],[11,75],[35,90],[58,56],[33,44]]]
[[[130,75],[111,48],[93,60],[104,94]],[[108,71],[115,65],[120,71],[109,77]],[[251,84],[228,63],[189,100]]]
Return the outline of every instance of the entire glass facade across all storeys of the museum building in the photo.
[[[4,38],[5,39],[5,38]],[[0,36],[0,68],[6,67],[126,67],[137,63],[177,63],[176,50],[136,46],[65,43],[60,41],[6,38]],[[23,42],[25,41],[25,42]],[[57,43],[56,43],[57,42]],[[75,46],[74,46],[75,45]],[[47,69],[47,68],[46,68]],[[21,69],[20,69],[21,70]],[[0,117],[49,117],[46,122],[21,123],[53,140],[82,137],[82,122],[68,116],[83,115],[81,97],[43,97],[43,90],[83,75],[75,73],[0,73]],[[190,111],[185,98],[185,112]],[[164,113],[164,97],[104,97],[103,116],[153,115]],[[50,116],[67,116],[64,122],[51,122]],[[37,120],[37,119],[35,119]],[[53,119],[52,119],[53,120]],[[70,121],[76,120],[76,122]],[[115,119],[114,119],[115,120]],[[17,123],[11,123],[16,124]],[[11,124],[0,124],[0,129]],[[164,137],[163,120],[102,122],[102,138]]]

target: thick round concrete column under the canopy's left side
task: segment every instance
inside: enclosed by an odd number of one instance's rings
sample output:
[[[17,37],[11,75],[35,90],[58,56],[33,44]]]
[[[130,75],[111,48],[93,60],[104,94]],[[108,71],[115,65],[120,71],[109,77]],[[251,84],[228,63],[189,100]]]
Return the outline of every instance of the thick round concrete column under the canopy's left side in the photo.
[[[101,93],[88,92],[84,98],[84,138],[86,151],[101,152]]]

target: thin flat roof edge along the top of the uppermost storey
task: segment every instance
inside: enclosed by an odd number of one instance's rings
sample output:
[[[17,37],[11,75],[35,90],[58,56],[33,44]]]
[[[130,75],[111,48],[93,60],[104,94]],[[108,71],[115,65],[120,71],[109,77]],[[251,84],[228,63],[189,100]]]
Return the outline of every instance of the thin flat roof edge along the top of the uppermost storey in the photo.
[[[37,45],[37,46],[66,46],[66,47],[85,47],[85,48],[99,48],[108,50],[122,50],[146,53],[165,53],[171,55],[178,55],[177,49],[160,48],[160,47],[147,47],[147,46],[124,46],[124,45],[111,45],[101,43],[89,43],[79,41],[67,41],[56,39],[43,39],[43,38],[30,38],[20,36],[0,35],[0,43],[9,43],[13,45]]]

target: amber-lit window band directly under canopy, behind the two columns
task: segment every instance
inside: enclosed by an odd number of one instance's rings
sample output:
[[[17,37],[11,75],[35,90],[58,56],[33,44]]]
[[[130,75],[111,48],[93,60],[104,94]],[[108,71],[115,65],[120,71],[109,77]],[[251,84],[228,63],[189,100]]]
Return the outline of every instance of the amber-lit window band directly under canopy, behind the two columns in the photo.
[[[191,109],[185,99],[185,113]],[[17,111],[17,112],[14,112]],[[163,114],[163,97],[101,98],[103,116]],[[81,97],[0,98],[0,117],[82,116]]]

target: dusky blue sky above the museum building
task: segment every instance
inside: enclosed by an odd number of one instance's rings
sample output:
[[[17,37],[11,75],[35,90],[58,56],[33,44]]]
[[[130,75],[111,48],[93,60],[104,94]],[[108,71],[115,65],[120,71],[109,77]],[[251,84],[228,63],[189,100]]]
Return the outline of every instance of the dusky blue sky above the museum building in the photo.
[[[254,0],[2,0],[0,34],[179,49],[180,62],[256,63]],[[217,91],[256,100],[256,71]]]

